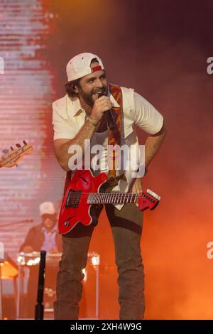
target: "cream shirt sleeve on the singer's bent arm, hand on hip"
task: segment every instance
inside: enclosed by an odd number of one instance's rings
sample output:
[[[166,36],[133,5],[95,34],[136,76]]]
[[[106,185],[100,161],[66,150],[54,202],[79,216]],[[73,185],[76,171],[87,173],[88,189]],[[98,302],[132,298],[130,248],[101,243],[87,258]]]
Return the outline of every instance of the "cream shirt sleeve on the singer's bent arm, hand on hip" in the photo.
[[[141,95],[133,92],[132,109],[134,123],[148,134],[156,134],[163,126],[163,116]]]

